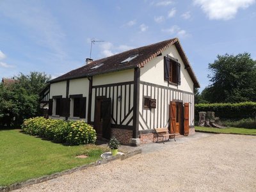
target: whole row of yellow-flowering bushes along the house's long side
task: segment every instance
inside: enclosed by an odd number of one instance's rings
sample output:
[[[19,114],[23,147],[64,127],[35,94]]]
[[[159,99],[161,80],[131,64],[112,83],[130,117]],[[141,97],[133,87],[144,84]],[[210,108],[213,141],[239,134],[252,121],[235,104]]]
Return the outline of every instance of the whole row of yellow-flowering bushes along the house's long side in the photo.
[[[67,145],[95,143],[97,138],[95,129],[83,121],[35,117],[24,120],[21,129],[26,134]]]

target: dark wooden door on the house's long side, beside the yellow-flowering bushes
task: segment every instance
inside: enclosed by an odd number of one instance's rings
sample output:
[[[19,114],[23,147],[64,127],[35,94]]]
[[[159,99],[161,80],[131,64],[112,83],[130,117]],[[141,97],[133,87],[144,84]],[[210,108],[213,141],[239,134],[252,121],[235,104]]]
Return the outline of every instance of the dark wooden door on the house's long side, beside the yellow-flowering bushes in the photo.
[[[99,97],[95,103],[94,127],[98,138],[111,137],[111,99]]]

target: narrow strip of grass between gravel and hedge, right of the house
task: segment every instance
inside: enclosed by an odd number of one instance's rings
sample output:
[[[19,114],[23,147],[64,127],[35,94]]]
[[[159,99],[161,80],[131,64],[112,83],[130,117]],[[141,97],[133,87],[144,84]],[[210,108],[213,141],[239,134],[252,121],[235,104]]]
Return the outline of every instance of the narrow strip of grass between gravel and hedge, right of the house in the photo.
[[[196,131],[204,132],[216,132],[216,133],[228,133],[228,134],[253,134],[256,135],[256,129],[244,129],[236,127],[227,127],[225,129],[218,129],[213,127],[197,127],[195,126]]]

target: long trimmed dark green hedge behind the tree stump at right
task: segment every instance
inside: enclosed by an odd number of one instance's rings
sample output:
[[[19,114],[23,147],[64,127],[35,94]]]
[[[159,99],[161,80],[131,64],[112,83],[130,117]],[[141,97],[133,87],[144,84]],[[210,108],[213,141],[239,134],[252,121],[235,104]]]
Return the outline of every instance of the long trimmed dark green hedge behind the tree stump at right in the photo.
[[[215,116],[221,119],[239,120],[243,118],[255,118],[256,102],[231,103],[213,103],[213,104],[195,104],[195,119],[198,120],[198,112],[214,111]]]

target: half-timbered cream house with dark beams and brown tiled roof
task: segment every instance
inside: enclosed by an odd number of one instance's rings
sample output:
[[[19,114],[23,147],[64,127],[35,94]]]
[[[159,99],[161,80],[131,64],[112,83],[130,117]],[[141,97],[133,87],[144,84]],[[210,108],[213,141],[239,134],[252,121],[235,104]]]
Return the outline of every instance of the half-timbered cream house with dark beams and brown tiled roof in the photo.
[[[49,116],[85,120],[99,138],[154,140],[154,128],[193,134],[200,85],[178,38],[92,61],[52,79]]]

